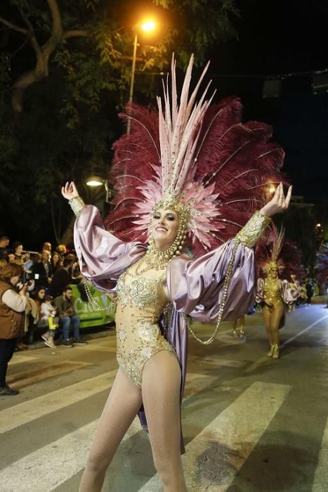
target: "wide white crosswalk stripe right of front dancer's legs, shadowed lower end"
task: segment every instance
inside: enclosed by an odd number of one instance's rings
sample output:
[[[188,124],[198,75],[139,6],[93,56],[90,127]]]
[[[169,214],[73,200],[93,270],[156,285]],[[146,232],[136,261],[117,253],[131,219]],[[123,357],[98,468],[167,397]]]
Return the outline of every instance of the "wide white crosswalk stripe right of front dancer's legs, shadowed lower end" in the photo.
[[[226,491],[290,389],[285,384],[255,382],[192,439],[183,456],[188,491]],[[217,477],[210,472],[206,474],[209,460],[218,463]],[[224,470],[224,474],[221,475],[220,470]],[[139,492],[150,491],[162,491],[157,475]]]

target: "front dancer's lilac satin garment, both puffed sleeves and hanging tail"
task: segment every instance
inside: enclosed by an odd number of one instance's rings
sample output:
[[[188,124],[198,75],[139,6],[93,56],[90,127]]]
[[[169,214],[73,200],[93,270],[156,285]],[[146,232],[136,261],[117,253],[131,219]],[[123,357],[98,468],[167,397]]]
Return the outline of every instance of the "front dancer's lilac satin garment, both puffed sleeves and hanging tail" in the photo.
[[[141,242],[123,242],[105,231],[96,207],[86,205],[75,222],[74,243],[81,273],[104,292],[112,292],[116,280],[147,251]],[[173,305],[167,339],[181,364],[181,398],[185,385],[188,330],[184,314],[202,323],[215,323],[223,294],[225,271],[235,240],[192,260],[173,258],[166,269],[166,292]],[[235,320],[247,313],[254,298],[254,251],[238,245],[235,264],[225,301],[223,320]],[[139,412],[147,427],[143,408]]]

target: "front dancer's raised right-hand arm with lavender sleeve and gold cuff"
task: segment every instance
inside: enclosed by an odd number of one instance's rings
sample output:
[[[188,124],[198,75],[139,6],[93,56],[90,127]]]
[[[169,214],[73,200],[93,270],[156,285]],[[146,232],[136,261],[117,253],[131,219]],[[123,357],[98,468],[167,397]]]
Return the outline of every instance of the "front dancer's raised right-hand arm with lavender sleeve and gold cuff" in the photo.
[[[195,261],[173,259],[167,269],[166,290],[175,309],[202,322],[235,320],[247,313],[254,299],[253,247],[270,222],[270,216],[289,205],[282,185],[272,200],[256,212],[236,238]]]

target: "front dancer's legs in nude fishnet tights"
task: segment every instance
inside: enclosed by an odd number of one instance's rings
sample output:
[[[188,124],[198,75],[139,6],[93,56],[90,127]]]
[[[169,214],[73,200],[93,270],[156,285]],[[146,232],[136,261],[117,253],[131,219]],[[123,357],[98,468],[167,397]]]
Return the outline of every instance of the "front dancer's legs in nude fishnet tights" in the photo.
[[[180,366],[176,356],[168,351],[158,352],[145,363],[141,390],[118,370],[98,422],[79,492],[101,491],[107,467],[142,403],[164,492],[187,491],[180,455],[180,384]]]

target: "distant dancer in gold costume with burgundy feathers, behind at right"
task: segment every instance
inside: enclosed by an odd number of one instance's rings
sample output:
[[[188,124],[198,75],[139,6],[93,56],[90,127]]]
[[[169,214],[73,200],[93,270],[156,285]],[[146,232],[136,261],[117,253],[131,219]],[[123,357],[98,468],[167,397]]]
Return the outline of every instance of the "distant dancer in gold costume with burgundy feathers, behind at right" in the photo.
[[[255,301],[263,305],[263,321],[270,342],[268,357],[280,357],[279,330],[284,326],[287,310],[301,295],[301,287],[290,283],[291,275],[303,274],[299,254],[291,243],[284,242],[284,229],[273,226],[268,242],[256,247],[260,275]],[[288,279],[288,280],[287,280]]]

